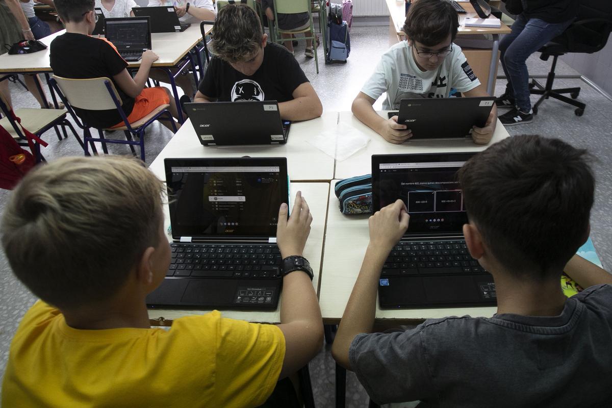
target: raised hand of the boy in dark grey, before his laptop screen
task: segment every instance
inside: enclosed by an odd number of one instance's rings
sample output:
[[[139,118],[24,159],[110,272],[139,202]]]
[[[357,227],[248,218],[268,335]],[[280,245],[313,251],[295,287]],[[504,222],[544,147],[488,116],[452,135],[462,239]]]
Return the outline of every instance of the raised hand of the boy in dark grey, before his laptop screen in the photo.
[[[410,216],[400,199],[389,204],[370,217],[370,246],[385,251],[385,256],[408,229]]]

